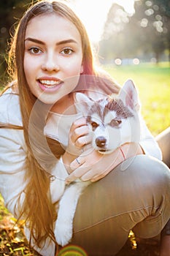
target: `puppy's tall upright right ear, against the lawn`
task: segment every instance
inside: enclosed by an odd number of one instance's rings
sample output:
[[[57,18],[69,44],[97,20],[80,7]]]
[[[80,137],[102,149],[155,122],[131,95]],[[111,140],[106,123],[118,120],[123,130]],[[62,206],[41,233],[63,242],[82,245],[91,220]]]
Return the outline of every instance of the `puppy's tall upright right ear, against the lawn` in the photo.
[[[125,106],[132,110],[139,110],[138,93],[132,80],[127,80],[125,82],[118,97],[122,99]]]

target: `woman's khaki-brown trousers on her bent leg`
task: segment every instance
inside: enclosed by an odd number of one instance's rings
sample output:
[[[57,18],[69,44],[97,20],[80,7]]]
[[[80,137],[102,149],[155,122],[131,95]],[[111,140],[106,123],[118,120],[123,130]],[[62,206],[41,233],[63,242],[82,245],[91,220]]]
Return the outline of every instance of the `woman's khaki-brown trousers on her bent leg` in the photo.
[[[126,170],[119,165],[85,189],[74,217],[72,244],[88,255],[115,255],[130,230],[151,238],[161,233],[169,218],[169,168],[139,155]]]

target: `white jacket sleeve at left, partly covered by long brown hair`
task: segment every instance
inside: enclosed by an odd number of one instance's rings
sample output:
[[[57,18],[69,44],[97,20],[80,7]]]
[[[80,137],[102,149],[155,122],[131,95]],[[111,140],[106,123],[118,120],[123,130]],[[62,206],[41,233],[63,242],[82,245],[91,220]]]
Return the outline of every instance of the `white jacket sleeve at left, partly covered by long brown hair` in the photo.
[[[27,182],[25,180],[26,156],[23,130],[0,129],[0,192],[7,208],[16,217],[19,214],[17,201],[20,195],[22,206]],[[55,203],[63,195],[65,178],[68,176],[61,160],[56,160],[51,174],[55,178],[50,182],[50,194]]]

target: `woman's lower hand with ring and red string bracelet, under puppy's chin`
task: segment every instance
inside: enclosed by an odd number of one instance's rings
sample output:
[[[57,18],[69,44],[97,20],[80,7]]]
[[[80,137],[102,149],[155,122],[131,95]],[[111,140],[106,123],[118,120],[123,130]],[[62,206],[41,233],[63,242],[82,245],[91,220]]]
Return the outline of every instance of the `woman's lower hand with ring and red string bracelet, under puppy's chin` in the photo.
[[[111,154],[101,154],[92,148],[83,152],[70,165],[71,174],[66,178],[66,184],[80,178],[82,181],[98,181],[128,157],[144,154],[137,143],[125,143]]]

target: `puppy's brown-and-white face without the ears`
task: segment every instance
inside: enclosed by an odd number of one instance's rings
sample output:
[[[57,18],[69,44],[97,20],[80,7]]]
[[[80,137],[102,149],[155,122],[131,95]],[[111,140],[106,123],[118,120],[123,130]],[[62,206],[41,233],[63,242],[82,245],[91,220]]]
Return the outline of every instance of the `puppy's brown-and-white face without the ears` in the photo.
[[[123,105],[121,99],[95,102],[88,112],[87,124],[92,146],[102,154],[109,154],[120,145],[134,141],[134,130],[138,129],[136,115]]]

